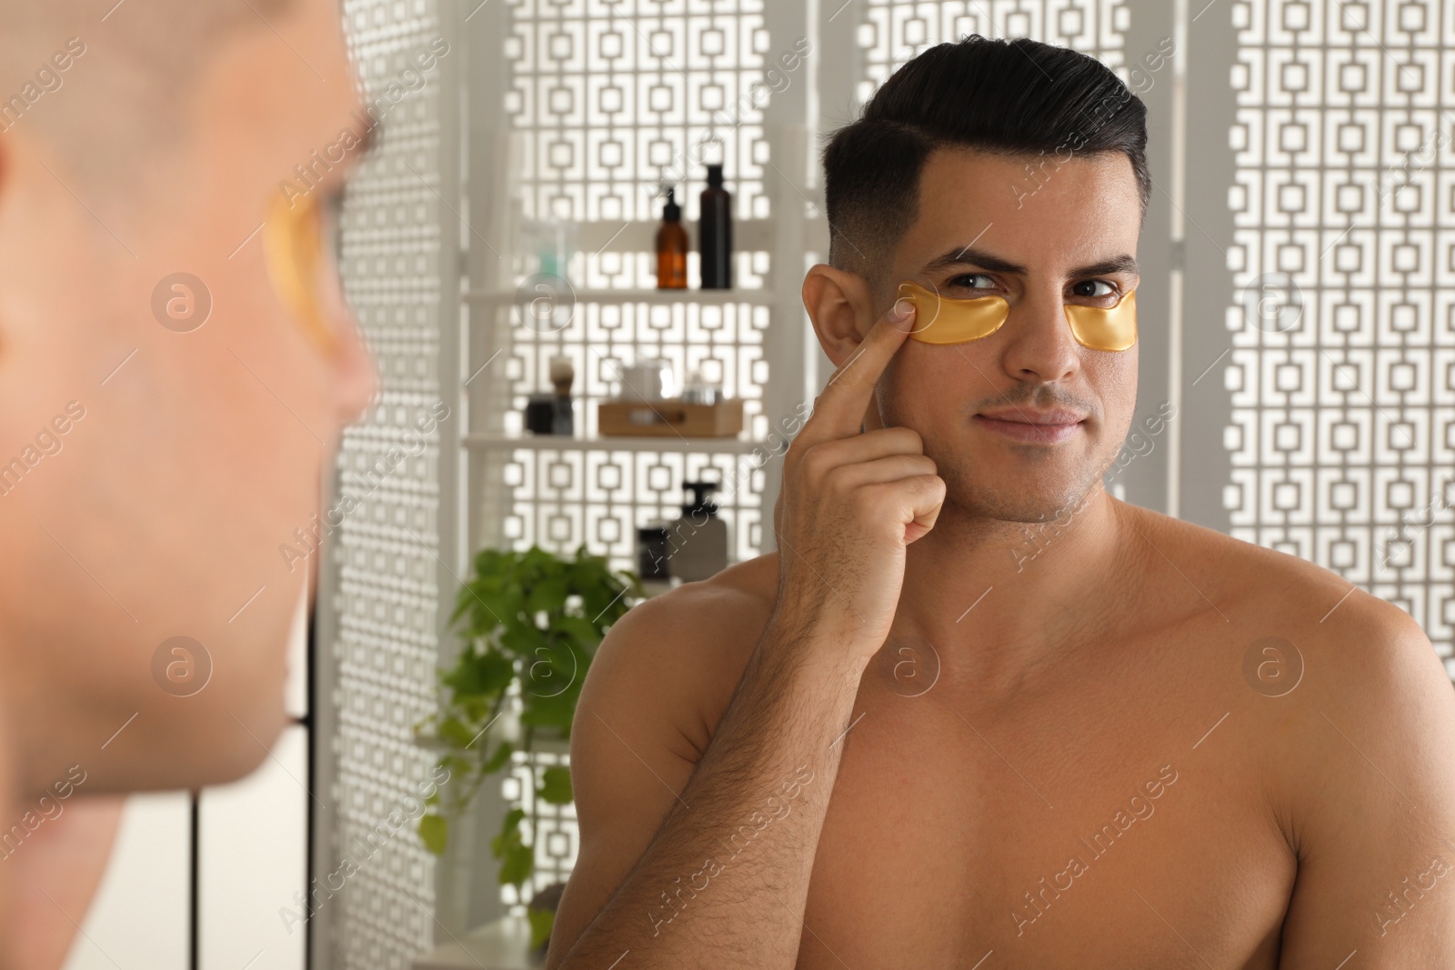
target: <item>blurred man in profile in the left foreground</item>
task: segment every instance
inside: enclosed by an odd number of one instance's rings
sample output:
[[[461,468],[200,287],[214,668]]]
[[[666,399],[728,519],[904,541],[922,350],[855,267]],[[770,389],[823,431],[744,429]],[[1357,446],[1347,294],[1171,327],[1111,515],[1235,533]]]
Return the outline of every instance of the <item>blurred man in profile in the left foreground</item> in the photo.
[[[278,547],[375,385],[319,205],[367,134],[340,16],[0,0],[0,829],[84,775],[6,843],[4,966],[64,957],[96,795],[239,778],[284,724]]]

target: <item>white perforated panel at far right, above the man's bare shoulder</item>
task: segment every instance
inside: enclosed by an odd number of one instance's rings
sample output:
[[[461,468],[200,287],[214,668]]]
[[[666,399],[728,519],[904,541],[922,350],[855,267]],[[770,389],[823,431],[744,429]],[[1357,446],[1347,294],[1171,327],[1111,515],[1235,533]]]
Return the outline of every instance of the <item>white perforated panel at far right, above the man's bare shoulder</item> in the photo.
[[[1232,9],[1232,534],[1455,625],[1455,10]]]

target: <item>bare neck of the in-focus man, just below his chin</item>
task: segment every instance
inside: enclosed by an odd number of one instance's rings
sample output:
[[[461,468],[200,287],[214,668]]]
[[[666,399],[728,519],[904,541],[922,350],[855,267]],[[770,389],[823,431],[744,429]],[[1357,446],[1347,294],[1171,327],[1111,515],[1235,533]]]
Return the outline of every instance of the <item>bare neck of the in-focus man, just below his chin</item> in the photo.
[[[1101,617],[1129,605],[1135,513],[1097,481],[1039,522],[972,516],[946,506],[912,544],[895,637],[922,637],[941,669],[973,682],[1014,682]]]

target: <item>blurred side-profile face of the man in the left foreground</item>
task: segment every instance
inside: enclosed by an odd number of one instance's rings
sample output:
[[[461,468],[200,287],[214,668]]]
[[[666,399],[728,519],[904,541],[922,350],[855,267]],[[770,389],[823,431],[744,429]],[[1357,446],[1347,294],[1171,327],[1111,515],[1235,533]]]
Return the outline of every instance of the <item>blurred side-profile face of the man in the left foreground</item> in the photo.
[[[262,761],[316,569],[279,548],[307,550],[294,529],[311,531],[340,429],[375,388],[332,263],[307,281],[324,349],[275,292],[256,231],[279,182],[300,185],[294,166],[361,131],[338,3],[297,0],[269,26],[217,42],[186,81],[189,134],[140,179],[81,189],[23,124],[0,140],[0,465],[47,436],[0,494],[4,727],[32,762],[81,761],[93,790],[202,784]],[[97,31],[90,45],[105,42]],[[106,103],[105,76],[80,70],[57,96],[83,83]],[[317,169],[313,192],[338,192],[358,154]],[[154,308],[159,292],[163,307],[186,298],[159,291],[182,272],[211,300],[191,330]],[[154,676],[172,637],[211,657],[192,697]],[[20,784],[51,771],[22,763]]]

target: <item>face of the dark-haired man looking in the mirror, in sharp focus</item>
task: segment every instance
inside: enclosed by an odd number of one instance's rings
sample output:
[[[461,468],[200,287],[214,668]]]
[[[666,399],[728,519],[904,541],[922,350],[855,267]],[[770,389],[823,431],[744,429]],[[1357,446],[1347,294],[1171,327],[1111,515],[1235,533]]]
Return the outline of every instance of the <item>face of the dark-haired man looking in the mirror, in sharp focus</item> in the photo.
[[[918,220],[895,253],[890,285],[997,294],[1010,317],[969,343],[906,340],[877,394],[886,425],[924,438],[947,503],[1014,522],[1053,518],[1085,494],[1122,446],[1136,403],[1136,346],[1087,349],[1064,311],[1113,305],[1138,285],[1131,161],[1106,153],[1048,163],[1039,189],[1026,163],[966,150],[927,160]],[[1055,410],[1069,417],[1048,414]],[[1062,426],[1024,423],[1045,420]]]

